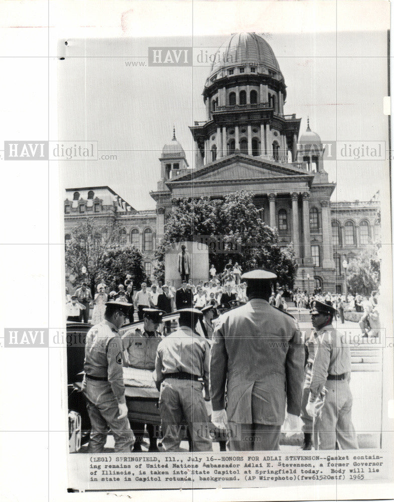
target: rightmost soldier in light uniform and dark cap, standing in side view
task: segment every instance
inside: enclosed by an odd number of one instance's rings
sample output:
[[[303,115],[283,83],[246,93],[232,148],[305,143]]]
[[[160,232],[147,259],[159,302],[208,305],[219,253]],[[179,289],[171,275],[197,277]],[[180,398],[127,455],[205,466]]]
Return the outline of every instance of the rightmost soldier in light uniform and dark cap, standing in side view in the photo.
[[[312,365],[307,411],[314,416],[315,449],[358,448],[351,420],[350,346],[344,335],[333,328],[336,310],[315,300],[312,325],[317,331],[316,353]]]

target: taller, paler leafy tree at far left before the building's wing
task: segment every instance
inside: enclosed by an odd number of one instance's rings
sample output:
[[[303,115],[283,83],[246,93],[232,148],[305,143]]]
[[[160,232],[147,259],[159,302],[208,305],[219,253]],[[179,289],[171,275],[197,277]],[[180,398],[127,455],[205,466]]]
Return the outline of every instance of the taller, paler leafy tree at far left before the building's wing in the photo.
[[[113,220],[98,225],[92,218],[86,218],[72,229],[71,239],[66,243],[66,268],[75,275],[77,282],[86,280],[89,283],[93,296],[97,279],[101,279],[105,252],[119,242],[119,232]],[[83,267],[86,273],[82,273]]]

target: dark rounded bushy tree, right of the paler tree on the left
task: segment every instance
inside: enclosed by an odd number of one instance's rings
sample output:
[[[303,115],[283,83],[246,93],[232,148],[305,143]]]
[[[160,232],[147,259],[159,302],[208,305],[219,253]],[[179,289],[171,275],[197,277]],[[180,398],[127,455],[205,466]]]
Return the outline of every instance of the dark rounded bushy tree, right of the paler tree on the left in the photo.
[[[115,245],[106,250],[102,260],[101,274],[104,282],[115,281],[116,284],[124,284],[126,274],[133,278],[133,285],[141,287],[146,281],[143,256],[141,251],[134,245]]]

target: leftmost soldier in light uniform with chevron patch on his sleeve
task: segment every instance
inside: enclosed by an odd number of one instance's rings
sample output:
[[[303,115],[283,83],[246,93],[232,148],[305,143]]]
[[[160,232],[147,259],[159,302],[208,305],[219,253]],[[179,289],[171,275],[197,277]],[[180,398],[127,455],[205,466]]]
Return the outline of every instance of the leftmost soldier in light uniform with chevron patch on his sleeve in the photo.
[[[104,320],[86,335],[82,390],[92,426],[88,452],[104,451],[109,427],[115,452],[129,453],[135,438],[127,418],[118,328],[124,324],[130,305],[112,301],[105,306]]]

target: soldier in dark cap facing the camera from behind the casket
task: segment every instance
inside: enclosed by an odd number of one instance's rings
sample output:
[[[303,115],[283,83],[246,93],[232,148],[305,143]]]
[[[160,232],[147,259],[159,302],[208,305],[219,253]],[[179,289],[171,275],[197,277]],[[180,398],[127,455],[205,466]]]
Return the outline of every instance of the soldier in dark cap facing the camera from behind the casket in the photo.
[[[155,369],[156,351],[162,339],[157,329],[165,312],[149,308],[145,308],[143,312],[143,330],[141,331],[138,328],[136,330],[130,329],[122,336],[124,365],[153,371]],[[144,424],[137,421],[132,421],[131,424],[136,435],[134,451],[142,451],[141,443],[144,437],[145,425],[149,434],[149,451],[159,451],[153,424]]]

